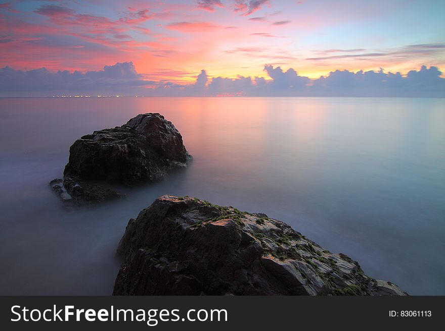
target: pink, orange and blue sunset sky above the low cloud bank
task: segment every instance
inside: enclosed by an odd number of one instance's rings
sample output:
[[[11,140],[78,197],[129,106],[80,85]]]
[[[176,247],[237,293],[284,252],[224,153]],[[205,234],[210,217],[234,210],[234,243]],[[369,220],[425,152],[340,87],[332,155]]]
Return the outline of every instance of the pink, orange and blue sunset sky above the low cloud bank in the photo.
[[[316,79],[335,70],[445,67],[445,3],[393,0],[85,1],[0,4],[0,67],[97,71],[132,62],[147,80]]]

